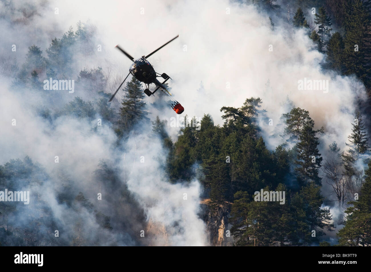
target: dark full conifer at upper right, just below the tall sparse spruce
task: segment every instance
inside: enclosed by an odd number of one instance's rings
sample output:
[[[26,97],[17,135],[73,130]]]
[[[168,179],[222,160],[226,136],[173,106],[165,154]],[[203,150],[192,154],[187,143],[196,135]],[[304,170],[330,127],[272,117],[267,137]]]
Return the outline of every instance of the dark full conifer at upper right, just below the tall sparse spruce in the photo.
[[[329,66],[336,71],[343,71],[344,42],[341,34],[335,32],[327,45],[327,60]]]

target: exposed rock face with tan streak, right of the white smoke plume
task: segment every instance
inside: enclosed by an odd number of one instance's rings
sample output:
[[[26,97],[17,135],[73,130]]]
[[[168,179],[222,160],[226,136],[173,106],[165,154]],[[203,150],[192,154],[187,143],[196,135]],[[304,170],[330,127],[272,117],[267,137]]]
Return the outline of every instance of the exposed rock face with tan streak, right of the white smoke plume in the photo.
[[[229,203],[211,205],[210,199],[200,203],[202,212],[200,217],[206,224],[206,233],[211,246],[233,246],[233,236],[229,230]]]

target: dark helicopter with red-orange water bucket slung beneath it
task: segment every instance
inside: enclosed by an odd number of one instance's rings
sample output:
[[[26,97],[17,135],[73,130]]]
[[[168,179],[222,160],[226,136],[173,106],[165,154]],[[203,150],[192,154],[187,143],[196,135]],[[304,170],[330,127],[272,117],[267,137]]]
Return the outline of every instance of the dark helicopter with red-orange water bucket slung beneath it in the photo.
[[[141,58],[136,59],[136,60],[134,60],[134,58],[131,55],[129,55],[127,52],[125,52],[125,50],[122,49],[119,45],[116,45],[115,47],[117,49],[119,49],[122,53],[124,53],[124,55],[127,56],[133,62],[133,64],[129,68],[128,75],[126,76],[126,78],[124,79],[124,81],[122,81],[122,83],[120,84],[120,86],[117,88],[116,92],[112,95],[111,99],[109,99],[109,102],[111,102],[112,99],[114,99],[116,93],[121,88],[122,84],[124,84],[125,80],[128,78],[128,76],[130,74],[132,76],[134,76],[134,78],[136,78],[138,81],[141,81],[141,82],[144,83],[144,85],[146,86],[146,89],[144,90],[144,93],[146,95],[148,95],[148,96],[153,95],[154,96],[154,93],[158,89],[161,89],[161,91],[164,92],[165,95],[171,96],[170,92],[164,86],[164,83],[166,81],[168,81],[168,79],[172,79],[172,78],[170,78],[170,76],[168,76],[165,73],[162,73],[160,75],[159,73],[155,72],[155,69],[153,68],[153,66],[151,65],[151,63],[147,60],[147,58],[150,57],[150,56],[152,56],[154,53],[156,53],[158,50],[160,50],[162,47],[164,47],[168,43],[170,43],[173,40],[175,40],[177,37],[179,37],[179,35],[177,35],[175,38],[171,39],[170,41],[168,41],[164,45],[158,47],[156,50],[154,50],[152,53],[148,54],[147,56],[144,56],[143,55]],[[165,80],[161,83],[160,81],[158,81],[158,79],[157,79],[158,77],[162,77]],[[150,84],[151,83],[154,83],[157,86],[157,88],[153,92],[150,91]],[[173,101],[169,100],[169,102],[171,104],[171,108],[174,109],[174,111],[177,114],[181,114],[184,111],[183,106],[180,105],[180,103],[178,101],[176,101],[176,100],[173,100]]]

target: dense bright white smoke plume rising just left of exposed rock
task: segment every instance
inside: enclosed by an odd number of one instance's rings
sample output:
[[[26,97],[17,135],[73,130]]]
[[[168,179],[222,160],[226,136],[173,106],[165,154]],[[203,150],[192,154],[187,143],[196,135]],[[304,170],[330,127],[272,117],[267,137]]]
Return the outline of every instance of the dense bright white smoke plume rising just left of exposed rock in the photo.
[[[168,182],[167,175],[159,170],[167,154],[157,138],[139,135],[126,145],[128,150],[121,155],[120,164],[129,172],[128,189],[143,205],[147,219],[164,224],[170,245],[206,245],[204,222],[198,217],[198,181],[187,185]]]

